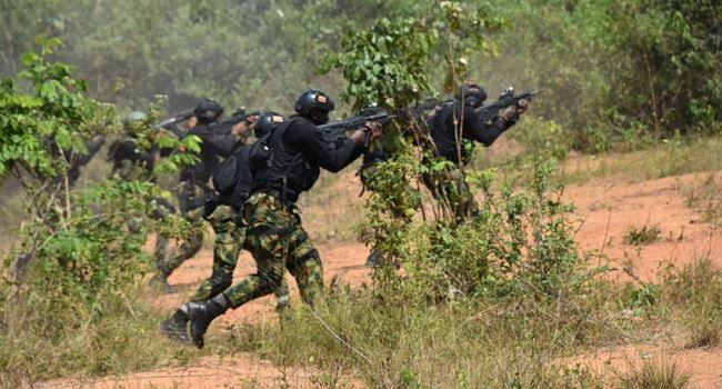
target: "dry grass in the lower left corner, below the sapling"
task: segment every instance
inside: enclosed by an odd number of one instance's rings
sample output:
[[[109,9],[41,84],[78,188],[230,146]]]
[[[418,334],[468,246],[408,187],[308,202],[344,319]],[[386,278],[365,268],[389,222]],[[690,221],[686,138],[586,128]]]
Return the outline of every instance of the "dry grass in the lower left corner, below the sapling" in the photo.
[[[161,316],[140,302],[137,290],[104,301],[106,313],[91,319],[91,307],[71,311],[28,303],[3,307],[0,331],[0,387],[12,388],[57,377],[122,375],[199,357],[159,333]]]

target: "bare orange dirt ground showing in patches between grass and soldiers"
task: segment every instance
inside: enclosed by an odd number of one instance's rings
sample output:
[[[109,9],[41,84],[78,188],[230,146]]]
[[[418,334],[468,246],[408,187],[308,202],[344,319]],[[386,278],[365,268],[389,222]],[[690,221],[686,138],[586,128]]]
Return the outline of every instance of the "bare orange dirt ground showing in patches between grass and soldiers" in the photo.
[[[722,179],[722,171],[714,173]],[[576,205],[580,220],[578,238],[584,250],[598,250],[609,257],[618,270],[613,277],[628,280],[630,277],[642,281],[655,280],[659,271],[666,266],[682,267],[700,257],[709,257],[722,266],[721,229],[702,221],[699,210],[685,203],[684,188],[708,179],[710,173],[685,174],[643,182],[596,180],[584,184],[572,184],[565,190],[566,200]],[[349,174],[341,180],[348,186],[348,193],[355,196],[355,178]],[[350,196],[350,194],[349,194]],[[322,207],[310,207],[322,211]],[[329,209],[329,208],[327,208]],[[309,215],[310,211],[309,211]],[[321,218],[327,217],[322,216]],[[334,218],[338,215],[328,216]],[[325,219],[328,220],[328,219]],[[630,226],[656,226],[661,230],[659,240],[632,246],[624,242]],[[313,223],[307,226],[313,235]],[[364,268],[368,249],[358,242],[323,239],[318,245],[324,260],[327,282],[332,277],[358,286],[369,282],[370,270]],[[159,308],[171,312],[194,291],[195,286],[210,273],[211,251],[203,250],[197,258],[184,263],[170,282],[179,287],[179,292],[164,296]],[[623,271],[625,269],[626,271]],[[253,272],[253,261],[243,253],[234,278],[241,279]],[[633,275],[633,276],[630,276]],[[290,285],[295,288],[293,282]],[[241,309],[227,313],[220,325],[209,332],[210,347],[218,337],[227,333],[228,327],[243,321],[275,320],[272,297],[258,299]],[[214,339],[215,338],[215,339]],[[682,350],[669,346],[626,346],[612,349],[593,350],[570,358],[566,365],[584,365],[603,373],[612,373],[629,368],[629,363],[640,363],[645,358],[659,357],[672,360],[691,375],[692,388],[722,388],[722,349]],[[285,381],[283,381],[285,377]],[[318,386],[319,372],[281,371],[271,362],[252,355],[239,353],[232,357],[205,358],[190,367],[166,368],[126,377],[109,377],[93,381],[54,380],[43,388],[274,388],[288,383],[291,388],[312,388]],[[343,376],[345,377],[345,376]],[[363,387],[358,380],[345,377],[341,387]]]

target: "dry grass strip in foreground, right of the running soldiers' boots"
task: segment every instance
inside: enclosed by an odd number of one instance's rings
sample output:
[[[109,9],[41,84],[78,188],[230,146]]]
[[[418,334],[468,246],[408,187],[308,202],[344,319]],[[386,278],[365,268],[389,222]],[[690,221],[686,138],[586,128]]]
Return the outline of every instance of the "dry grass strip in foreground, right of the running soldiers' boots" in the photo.
[[[243,325],[210,347],[255,352],[281,367],[341,369],[371,388],[595,388],[611,371],[562,361],[599,347],[660,339],[680,323],[686,338],[704,337],[712,346],[709,335],[719,335],[721,322],[720,275],[706,259],[673,270],[653,286],[659,298],[632,317],[623,312],[635,306],[638,288],[613,282],[563,302],[519,296],[437,306],[385,305],[371,290],[347,288],[314,312],[297,305],[282,326]],[[652,362],[618,378],[615,387],[624,388],[683,388],[689,380],[673,365]]]

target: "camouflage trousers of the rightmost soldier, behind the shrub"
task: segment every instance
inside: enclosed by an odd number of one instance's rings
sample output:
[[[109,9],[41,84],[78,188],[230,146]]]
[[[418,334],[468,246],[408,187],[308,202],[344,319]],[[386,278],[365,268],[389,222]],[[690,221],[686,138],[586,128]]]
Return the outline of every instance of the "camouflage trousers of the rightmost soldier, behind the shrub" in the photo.
[[[422,179],[434,199],[451,212],[455,222],[479,215],[479,205],[469,189],[464,173],[458,166],[448,163],[440,170],[430,168]]]

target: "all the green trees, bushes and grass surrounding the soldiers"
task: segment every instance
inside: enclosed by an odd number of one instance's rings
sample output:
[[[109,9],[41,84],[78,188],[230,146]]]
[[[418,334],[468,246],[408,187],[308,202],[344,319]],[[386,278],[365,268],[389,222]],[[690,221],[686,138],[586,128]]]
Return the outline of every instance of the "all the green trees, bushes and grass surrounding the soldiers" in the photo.
[[[148,235],[179,236],[187,228],[174,217],[150,218],[163,190],[152,181],[101,177],[78,188],[69,182],[87,143],[120,133],[118,111],[130,107],[148,106],[150,113],[126,129],[140,147],[198,151],[195,139],[180,142],[153,128],[166,104],[156,93],[169,96],[171,110],[200,96],[288,108],[313,84],[340,96],[342,111],[372,102],[399,111],[469,79],[482,80],[490,96],[510,80],[546,89],[533,102],[534,116],[513,131],[522,152],[462,167],[482,198],[469,220],[454,218],[449,199],[421,189],[424,174],[449,166],[420,163],[420,123],[392,127],[383,142],[394,157],[370,177],[363,209],[353,208],[364,217],[358,237],[383,262],[373,283],[337,285],[328,299],[313,309],[297,307],[280,326],[245,325],[230,339],[224,333],[214,351],[314,366],[330,372],[318,382],[328,387],[342,370],[381,388],[586,388],[609,382],[571,367],[566,357],[673,329],[682,329],[688,348],[720,343],[722,273],[712,261],[670,267],[656,283],[612,282],[605,258],[580,250],[574,208],[561,197],[565,181],[631,167],[643,178],[720,168],[720,4],[0,4],[0,69],[9,76],[0,83],[0,178],[13,177],[24,210],[0,286],[3,386],[198,356],[159,339],[160,318],[140,283],[150,263],[142,250]],[[39,34],[59,36],[67,47],[56,51],[60,40],[39,39],[38,53],[20,54]],[[90,82],[58,60],[77,63]],[[703,138],[709,134],[716,136]],[[572,149],[628,153],[560,178],[558,161]],[[157,173],[173,172],[192,154],[172,153]],[[492,164],[498,169],[484,170]],[[688,194],[691,206],[710,209],[710,221],[719,219],[718,187],[711,178]],[[143,228],[129,231],[130,219]],[[335,222],[348,229],[348,220]],[[655,226],[632,226],[626,240],[641,245],[660,233]],[[646,363],[613,385],[681,388],[688,380],[673,365]]]

